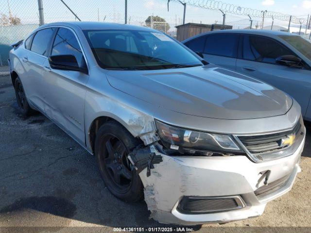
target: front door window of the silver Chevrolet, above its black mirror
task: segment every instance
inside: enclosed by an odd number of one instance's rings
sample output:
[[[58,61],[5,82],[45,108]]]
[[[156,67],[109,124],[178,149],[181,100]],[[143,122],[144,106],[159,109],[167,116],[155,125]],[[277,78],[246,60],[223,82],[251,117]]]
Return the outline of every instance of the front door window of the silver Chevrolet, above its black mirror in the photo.
[[[52,56],[54,55],[73,55],[81,67],[84,58],[80,45],[75,35],[67,28],[59,28],[52,46]]]

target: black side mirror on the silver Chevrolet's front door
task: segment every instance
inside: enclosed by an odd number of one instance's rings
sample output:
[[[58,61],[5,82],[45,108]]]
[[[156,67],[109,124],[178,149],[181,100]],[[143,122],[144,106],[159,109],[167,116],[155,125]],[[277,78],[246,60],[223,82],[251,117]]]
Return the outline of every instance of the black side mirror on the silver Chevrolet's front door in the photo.
[[[75,70],[88,73],[86,65],[80,67],[77,59],[73,55],[54,55],[49,57],[49,63],[52,69]]]

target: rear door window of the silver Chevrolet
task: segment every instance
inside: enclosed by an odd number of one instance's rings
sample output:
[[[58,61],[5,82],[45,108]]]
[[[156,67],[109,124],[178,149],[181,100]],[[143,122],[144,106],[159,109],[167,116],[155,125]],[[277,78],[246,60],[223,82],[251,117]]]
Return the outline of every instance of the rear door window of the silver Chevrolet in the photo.
[[[43,56],[48,55],[48,49],[50,46],[50,41],[54,33],[55,28],[47,28],[38,31],[35,34],[31,50]]]

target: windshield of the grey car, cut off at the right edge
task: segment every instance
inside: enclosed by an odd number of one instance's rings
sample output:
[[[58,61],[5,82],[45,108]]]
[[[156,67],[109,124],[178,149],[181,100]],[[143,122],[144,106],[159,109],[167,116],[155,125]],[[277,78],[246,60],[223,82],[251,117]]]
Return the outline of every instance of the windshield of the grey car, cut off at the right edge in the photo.
[[[309,40],[298,35],[280,35],[279,37],[305,55],[308,59],[311,59],[311,42]]]

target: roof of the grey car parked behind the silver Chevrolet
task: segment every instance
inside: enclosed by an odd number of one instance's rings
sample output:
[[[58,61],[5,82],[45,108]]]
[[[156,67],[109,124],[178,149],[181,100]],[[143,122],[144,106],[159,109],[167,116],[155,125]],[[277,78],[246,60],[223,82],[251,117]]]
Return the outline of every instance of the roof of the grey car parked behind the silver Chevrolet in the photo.
[[[229,29],[229,30],[212,31],[212,32],[198,34],[198,35],[192,36],[192,37],[182,41],[182,43],[185,43],[189,40],[192,40],[192,39],[199,37],[199,36],[202,36],[202,35],[213,34],[213,33],[238,33],[238,34],[253,34],[253,35],[265,35],[265,36],[278,36],[278,35],[296,36],[297,35],[297,34],[293,34],[293,33],[271,31],[271,30]]]

